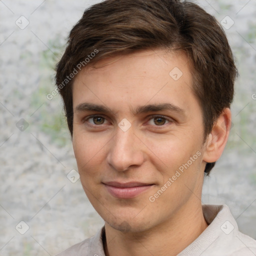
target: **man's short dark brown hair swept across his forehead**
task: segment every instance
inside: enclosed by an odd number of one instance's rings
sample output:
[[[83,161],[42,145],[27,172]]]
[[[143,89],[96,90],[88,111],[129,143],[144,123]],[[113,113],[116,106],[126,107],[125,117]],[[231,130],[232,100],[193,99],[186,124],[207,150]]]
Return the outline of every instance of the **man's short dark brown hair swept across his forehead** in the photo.
[[[105,0],[84,11],[56,65],[56,85],[71,135],[74,75],[70,74],[108,56],[156,48],[186,52],[206,138],[223,109],[230,107],[237,70],[215,18],[197,4],[179,0]],[[208,174],[214,164],[207,163],[204,172]]]

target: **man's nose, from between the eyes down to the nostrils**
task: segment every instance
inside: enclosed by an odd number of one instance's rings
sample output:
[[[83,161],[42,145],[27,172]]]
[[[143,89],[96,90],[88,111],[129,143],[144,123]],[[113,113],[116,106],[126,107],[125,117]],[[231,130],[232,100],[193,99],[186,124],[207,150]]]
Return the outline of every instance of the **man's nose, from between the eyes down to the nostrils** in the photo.
[[[126,131],[116,127],[115,136],[109,143],[106,160],[112,168],[118,171],[127,170],[131,166],[139,166],[144,160],[142,147],[132,126]]]

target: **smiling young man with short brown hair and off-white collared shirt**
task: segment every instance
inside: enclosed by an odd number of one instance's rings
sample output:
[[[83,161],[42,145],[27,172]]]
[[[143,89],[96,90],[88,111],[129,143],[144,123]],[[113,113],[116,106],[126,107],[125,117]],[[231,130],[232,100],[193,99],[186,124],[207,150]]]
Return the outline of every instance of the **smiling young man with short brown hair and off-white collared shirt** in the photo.
[[[236,68],[198,5],[106,0],[57,65],[81,184],[105,225],[59,255],[256,255],[226,205],[201,205],[231,125]]]

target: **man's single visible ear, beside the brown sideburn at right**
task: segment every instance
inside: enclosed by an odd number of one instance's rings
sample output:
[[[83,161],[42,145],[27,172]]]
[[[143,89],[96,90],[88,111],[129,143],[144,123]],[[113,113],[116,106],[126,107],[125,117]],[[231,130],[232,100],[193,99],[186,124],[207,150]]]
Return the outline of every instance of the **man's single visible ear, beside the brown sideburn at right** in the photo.
[[[231,111],[225,108],[219,115],[204,143],[202,160],[215,162],[222,154],[231,128]]]

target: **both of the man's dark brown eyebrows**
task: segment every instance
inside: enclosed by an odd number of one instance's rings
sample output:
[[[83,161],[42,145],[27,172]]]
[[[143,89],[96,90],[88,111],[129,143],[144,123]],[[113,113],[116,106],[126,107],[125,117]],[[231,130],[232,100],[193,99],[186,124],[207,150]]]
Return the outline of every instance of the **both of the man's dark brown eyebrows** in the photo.
[[[136,115],[139,113],[157,112],[157,111],[163,111],[163,110],[169,110],[169,111],[176,112],[176,113],[179,113],[182,115],[186,115],[184,109],[182,109],[178,106],[175,106],[171,103],[147,104],[147,105],[138,106],[135,109],[135,111],[132,110],[132,113],[134,115]],[[113,113],[115,115],[114,111],[111,110],[110,108],[108,108],[107,106],[88,103],[88,102],[80,103],[75,107],[75,112],[83,112],[83,111]]]

